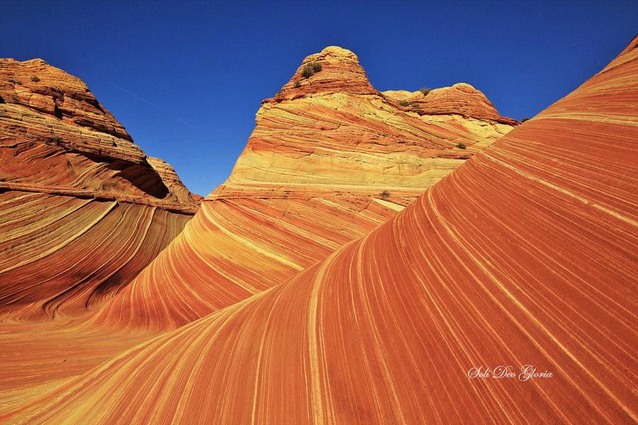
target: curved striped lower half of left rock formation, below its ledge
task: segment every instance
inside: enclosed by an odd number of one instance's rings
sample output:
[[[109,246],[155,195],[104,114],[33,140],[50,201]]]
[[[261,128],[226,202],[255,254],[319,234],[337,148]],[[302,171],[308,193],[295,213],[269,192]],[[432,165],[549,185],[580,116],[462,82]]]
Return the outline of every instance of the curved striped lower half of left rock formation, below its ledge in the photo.
[[[190,218],[114,200],[1,193],[0,319],[49,320],[101,305]]]

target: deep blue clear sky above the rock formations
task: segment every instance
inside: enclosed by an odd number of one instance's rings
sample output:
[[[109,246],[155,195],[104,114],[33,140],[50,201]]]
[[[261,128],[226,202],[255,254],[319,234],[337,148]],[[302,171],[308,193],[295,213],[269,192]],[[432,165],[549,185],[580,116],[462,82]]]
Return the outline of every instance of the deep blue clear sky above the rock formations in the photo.
[[[379,90],[464,81],[501,114],[533,116],[615,57],[638,1],[2,1],[0,55],[83,79],[191,191],[223,183],[262,98],[328,45]],[[142,100],[144,99],[144,100]]]

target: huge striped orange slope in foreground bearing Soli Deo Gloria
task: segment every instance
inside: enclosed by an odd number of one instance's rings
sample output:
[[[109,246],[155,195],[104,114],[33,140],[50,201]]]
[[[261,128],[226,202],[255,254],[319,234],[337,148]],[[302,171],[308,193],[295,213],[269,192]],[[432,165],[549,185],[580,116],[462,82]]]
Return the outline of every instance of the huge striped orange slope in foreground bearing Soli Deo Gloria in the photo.
[[[637,44],[325,260],[0,419],[636,423]]]

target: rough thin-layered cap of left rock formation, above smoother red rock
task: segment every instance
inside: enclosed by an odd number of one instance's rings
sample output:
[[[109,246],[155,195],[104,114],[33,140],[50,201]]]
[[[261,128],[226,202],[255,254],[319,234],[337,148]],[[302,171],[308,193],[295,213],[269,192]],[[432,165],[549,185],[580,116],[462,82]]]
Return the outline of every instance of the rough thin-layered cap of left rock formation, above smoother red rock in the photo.
[[[12,120],[3,130],[13,137],[39,142],[60,137],[60,144],[79,152],[144,162],[142,149],[79,78],[41,59],[0,59],[0,84],[4,108],[10,108],[2,118]]]

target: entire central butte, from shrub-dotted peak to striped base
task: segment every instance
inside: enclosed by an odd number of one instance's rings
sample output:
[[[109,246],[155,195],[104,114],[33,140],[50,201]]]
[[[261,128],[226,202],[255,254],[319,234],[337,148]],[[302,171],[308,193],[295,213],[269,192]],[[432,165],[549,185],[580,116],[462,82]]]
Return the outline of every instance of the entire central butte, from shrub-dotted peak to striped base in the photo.
[[[96,322],[179,327],[272,288],[396,215],[517,124],[467,84],[430,95],[436,111],[404,108],[371,86],[349,50],[306,57],[262,102],[228,181]]]

